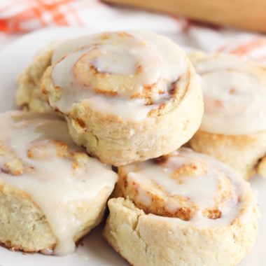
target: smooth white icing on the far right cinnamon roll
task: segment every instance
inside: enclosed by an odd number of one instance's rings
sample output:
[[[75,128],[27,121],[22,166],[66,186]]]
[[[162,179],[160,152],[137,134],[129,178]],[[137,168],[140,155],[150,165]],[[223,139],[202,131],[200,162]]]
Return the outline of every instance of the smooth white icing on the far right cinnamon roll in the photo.
[[[252,134],[266,130],[266,73],[246,59],[226,56],[195,62],[202,76],[204,117],[200,130]]]

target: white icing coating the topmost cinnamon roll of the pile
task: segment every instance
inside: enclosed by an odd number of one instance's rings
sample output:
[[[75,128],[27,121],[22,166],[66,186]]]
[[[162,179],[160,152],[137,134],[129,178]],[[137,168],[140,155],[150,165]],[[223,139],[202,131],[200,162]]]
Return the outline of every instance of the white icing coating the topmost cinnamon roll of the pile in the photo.
[[[74,103],[85,100],[92,109],[126,120],[142,120],[149,111],[158,109],[162,102],[170,98],[172,83],[186,74],[186,55],[168,38],[146,31],[129,31],[129,34],[132,35],[120,32],[93,34],[59,45],[52,57],[55,63],[52,81],[55,87],[62,88],[62,94],[57,102],[50,104],[67,113]],[[88,54],[87,69],[84,71],[87,71],[90,84],[84,85],[78,83],[73,67],[83,55]],[[124,81],[121,84],[112,83],[110,86],[114,86],[112,89],[118,92],[117,95],[96,94],[95,77],[90,66],[111,76],[127,76],[133,80],[132,85],[125,88]],[[141,71],[137,73],[139,66]],[[143,93],[145,86],[152,85],[157,85],[151,94],[153,104],[146,105],[145,99],[141,98],[132,99],[135,94]],[[94,100],[97,104],[94,104]]]

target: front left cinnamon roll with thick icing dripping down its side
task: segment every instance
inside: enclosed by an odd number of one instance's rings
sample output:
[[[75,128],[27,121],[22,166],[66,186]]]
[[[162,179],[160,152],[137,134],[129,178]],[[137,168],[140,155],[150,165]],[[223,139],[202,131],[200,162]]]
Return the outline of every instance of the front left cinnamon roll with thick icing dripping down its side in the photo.
[[[54,115],[2,113],[0,242],[66,255],[101,220],[117,174],[73,144]]]

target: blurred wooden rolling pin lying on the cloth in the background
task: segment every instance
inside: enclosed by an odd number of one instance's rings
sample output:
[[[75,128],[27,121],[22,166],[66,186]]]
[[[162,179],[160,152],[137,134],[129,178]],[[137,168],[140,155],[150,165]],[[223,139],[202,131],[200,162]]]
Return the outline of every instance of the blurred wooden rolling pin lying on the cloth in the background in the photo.
[[[266,33],[266,0],[104,0]]]

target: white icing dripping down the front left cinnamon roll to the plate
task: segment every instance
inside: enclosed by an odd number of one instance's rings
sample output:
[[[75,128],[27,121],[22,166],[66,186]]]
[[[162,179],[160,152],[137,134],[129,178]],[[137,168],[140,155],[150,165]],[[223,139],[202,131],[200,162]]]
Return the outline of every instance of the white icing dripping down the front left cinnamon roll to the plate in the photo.
[[[52,140],[62,141],[74,152],[83,152],[73,144],[66,123],[57,116],[14,111],[1,114],[0,119],[0,142],[12,148],[26,167],[34,169],[19,176],[2,172],[0,182],[24,190],[41,208],[58,240],[55,254],[73,252],[73,237],[80,227],[76,211],[85,208],[82,204],[89,206],[103,188],[111,193],[116,173],[87,155],[83,167],[75,171],[71,158],[57,155]],[[34,148],[34,158],[27,156],[29,148]],[[0,156],[0,168],[7,161],[7,157]]]

